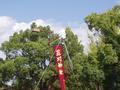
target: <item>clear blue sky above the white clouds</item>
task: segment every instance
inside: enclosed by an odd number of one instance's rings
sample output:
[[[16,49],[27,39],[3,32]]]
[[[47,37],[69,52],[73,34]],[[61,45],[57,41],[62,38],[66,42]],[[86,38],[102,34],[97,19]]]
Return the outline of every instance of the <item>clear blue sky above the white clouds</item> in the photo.
[[[92,12],[103,12],[117,4],[118,0],[1,0],[0,16],[17,21],[34,19],[55,20],[64,24],[83,22]]]

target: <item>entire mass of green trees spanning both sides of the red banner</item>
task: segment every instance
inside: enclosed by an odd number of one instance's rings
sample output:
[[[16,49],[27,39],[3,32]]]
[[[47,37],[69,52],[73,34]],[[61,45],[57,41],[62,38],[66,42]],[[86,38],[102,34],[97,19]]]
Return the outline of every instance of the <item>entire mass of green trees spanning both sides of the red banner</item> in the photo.
[[[63,44],[66,90],[119,90],[120,89],[120,6],[104,13],[92,13],[85,18],[91,31],[87,54],[78,36],[70,27],[65,29]],[[33,30],[39,32],[32,32]],[[0,89],[59,90],[59,78],[54,52],[48,43],[50,26],[37,26],[15,32],[0,50]],[[54,41],[60,36],[52,33]],[[57,41],[55,43],[58,43]],[[70,68],[68,54],[73,64]],[[8,85],[10,83],[11,85]]]

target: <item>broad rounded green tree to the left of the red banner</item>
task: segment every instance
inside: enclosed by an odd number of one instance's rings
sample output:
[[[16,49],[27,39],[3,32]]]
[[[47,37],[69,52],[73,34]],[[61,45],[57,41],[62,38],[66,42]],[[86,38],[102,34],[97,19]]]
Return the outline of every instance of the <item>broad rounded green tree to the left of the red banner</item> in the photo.
[[[40,32],[32,32],[33,28]],[[53,54],[48,45],[50,31],[49,26],[37,27],[33,23],[30,30],[14,33],[9,41],[2,44],[1,50],[6,54],[6,60],[0,61],[0,86],[12,80],[11,87],[15,90],[33,90],[40,78],[39,89],[48,89],[54,83],[56,71],[53,60],[53,65],[42,75]]]

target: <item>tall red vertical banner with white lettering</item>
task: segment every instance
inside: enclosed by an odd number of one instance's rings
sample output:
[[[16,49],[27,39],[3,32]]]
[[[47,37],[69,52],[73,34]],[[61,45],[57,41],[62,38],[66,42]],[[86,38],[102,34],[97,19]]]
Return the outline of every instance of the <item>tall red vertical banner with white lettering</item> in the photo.
[[[56,67],[59,73],[60,87],[61,90],[65,90],[65,79],[64,79],[64,66],[63,66],[63,46],[54,45],[54,55],[56,59]]]

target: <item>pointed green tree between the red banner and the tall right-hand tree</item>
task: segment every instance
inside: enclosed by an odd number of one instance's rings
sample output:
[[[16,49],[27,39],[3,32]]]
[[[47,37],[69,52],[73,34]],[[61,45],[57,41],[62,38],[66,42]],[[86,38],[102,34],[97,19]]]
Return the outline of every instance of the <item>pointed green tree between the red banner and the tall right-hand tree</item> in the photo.
[[[73,63],[73,71],[70,70],[68,58],[65,58],[65,71],[67,71],[66,85],[68,90],[96,90],[102,88],[104,72],[97,60],[97,47],[91,43],[89,54],[83,52],[83,46],[78,37],[66,28],[66,45]],[[94,48],[94,52],[93,49]]]

